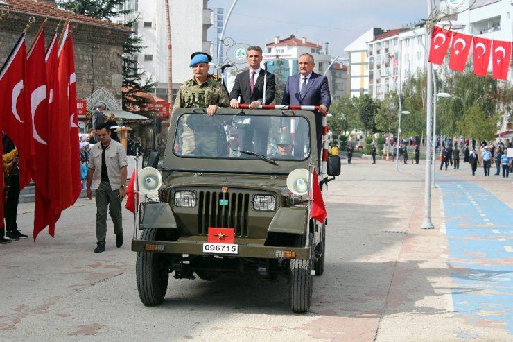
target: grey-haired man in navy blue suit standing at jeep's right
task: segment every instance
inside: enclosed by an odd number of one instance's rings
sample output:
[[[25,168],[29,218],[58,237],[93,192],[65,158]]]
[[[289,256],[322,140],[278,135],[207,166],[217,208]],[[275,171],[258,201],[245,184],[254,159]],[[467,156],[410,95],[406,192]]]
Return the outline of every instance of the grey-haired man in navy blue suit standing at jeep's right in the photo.
[[[317,150],[320,161],[322,151],[322,115],[328,112],[329,105],[331,105],[328,79],[326,76],[313,72],[313,67],[315,67],[313,55],[303,53],[299,56],[297,63],[299,65],[299,74],[290,76],[287,79],[281,104],[319,106],[319,111],[315,111],[315,123],[317,126]],[[308,128],[299,124],[299,122],[306,123],[303,120],[295,121],[298,126],[295,128],[294,155],[297,157],[302,156]],[[284,125],[282,124],[282,126]],[[284,126],[284,129],[289,130],[290,127]]]

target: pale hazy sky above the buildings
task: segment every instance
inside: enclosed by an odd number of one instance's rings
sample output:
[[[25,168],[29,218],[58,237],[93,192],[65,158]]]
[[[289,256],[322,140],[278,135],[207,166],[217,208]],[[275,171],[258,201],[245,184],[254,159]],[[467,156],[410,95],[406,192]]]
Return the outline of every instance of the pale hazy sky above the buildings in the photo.
[[[209,8],[224,8],[225,20],[233,0],[209,0]],[[275,36],[295,35],[324,46],[329,54],[345,56],[344,48],[372,27],[401,28],[426,19],[426,0],[238,0],[225,37],[262,49]],[[209,32],[209,40],[213,35]]]

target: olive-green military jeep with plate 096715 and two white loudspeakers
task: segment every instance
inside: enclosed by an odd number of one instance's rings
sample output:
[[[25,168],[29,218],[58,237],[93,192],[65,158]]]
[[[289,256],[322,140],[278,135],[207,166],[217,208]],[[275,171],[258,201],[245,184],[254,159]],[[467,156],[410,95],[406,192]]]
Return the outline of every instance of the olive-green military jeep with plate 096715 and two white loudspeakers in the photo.
[[[281,130],[295,137],[289,155],[272,148]],[[327,219],[311,218],[313,191],[320,192],[313,173],[324,193],[340,173],[338,155],[324,162],[318,155],[310,111],[175,110],[162,169],[139,171],[141,234],[132,250],[141,302],[162,303],[172,273],[216,280],[254,272],[288,277],[290,308],[308,311],[326,253]]]

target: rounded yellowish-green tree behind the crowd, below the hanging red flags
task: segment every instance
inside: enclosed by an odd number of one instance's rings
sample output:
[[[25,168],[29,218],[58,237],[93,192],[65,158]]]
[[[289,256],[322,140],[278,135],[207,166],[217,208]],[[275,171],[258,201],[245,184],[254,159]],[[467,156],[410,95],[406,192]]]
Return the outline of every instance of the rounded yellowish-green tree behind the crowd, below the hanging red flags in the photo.
[[[489,116],[478,103],[474,103],[457,125],[465,137],[474,137],[478,141],[491,140],[495,137],[497,119],[497,115]]]

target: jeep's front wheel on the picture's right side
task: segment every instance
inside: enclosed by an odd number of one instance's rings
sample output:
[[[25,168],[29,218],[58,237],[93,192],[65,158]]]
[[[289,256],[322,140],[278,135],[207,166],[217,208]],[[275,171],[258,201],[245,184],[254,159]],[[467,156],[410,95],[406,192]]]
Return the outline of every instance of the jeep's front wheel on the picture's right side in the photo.
[[[312,298],[312,275],[310,260],[290,260],[290,309],[306,312]]]

